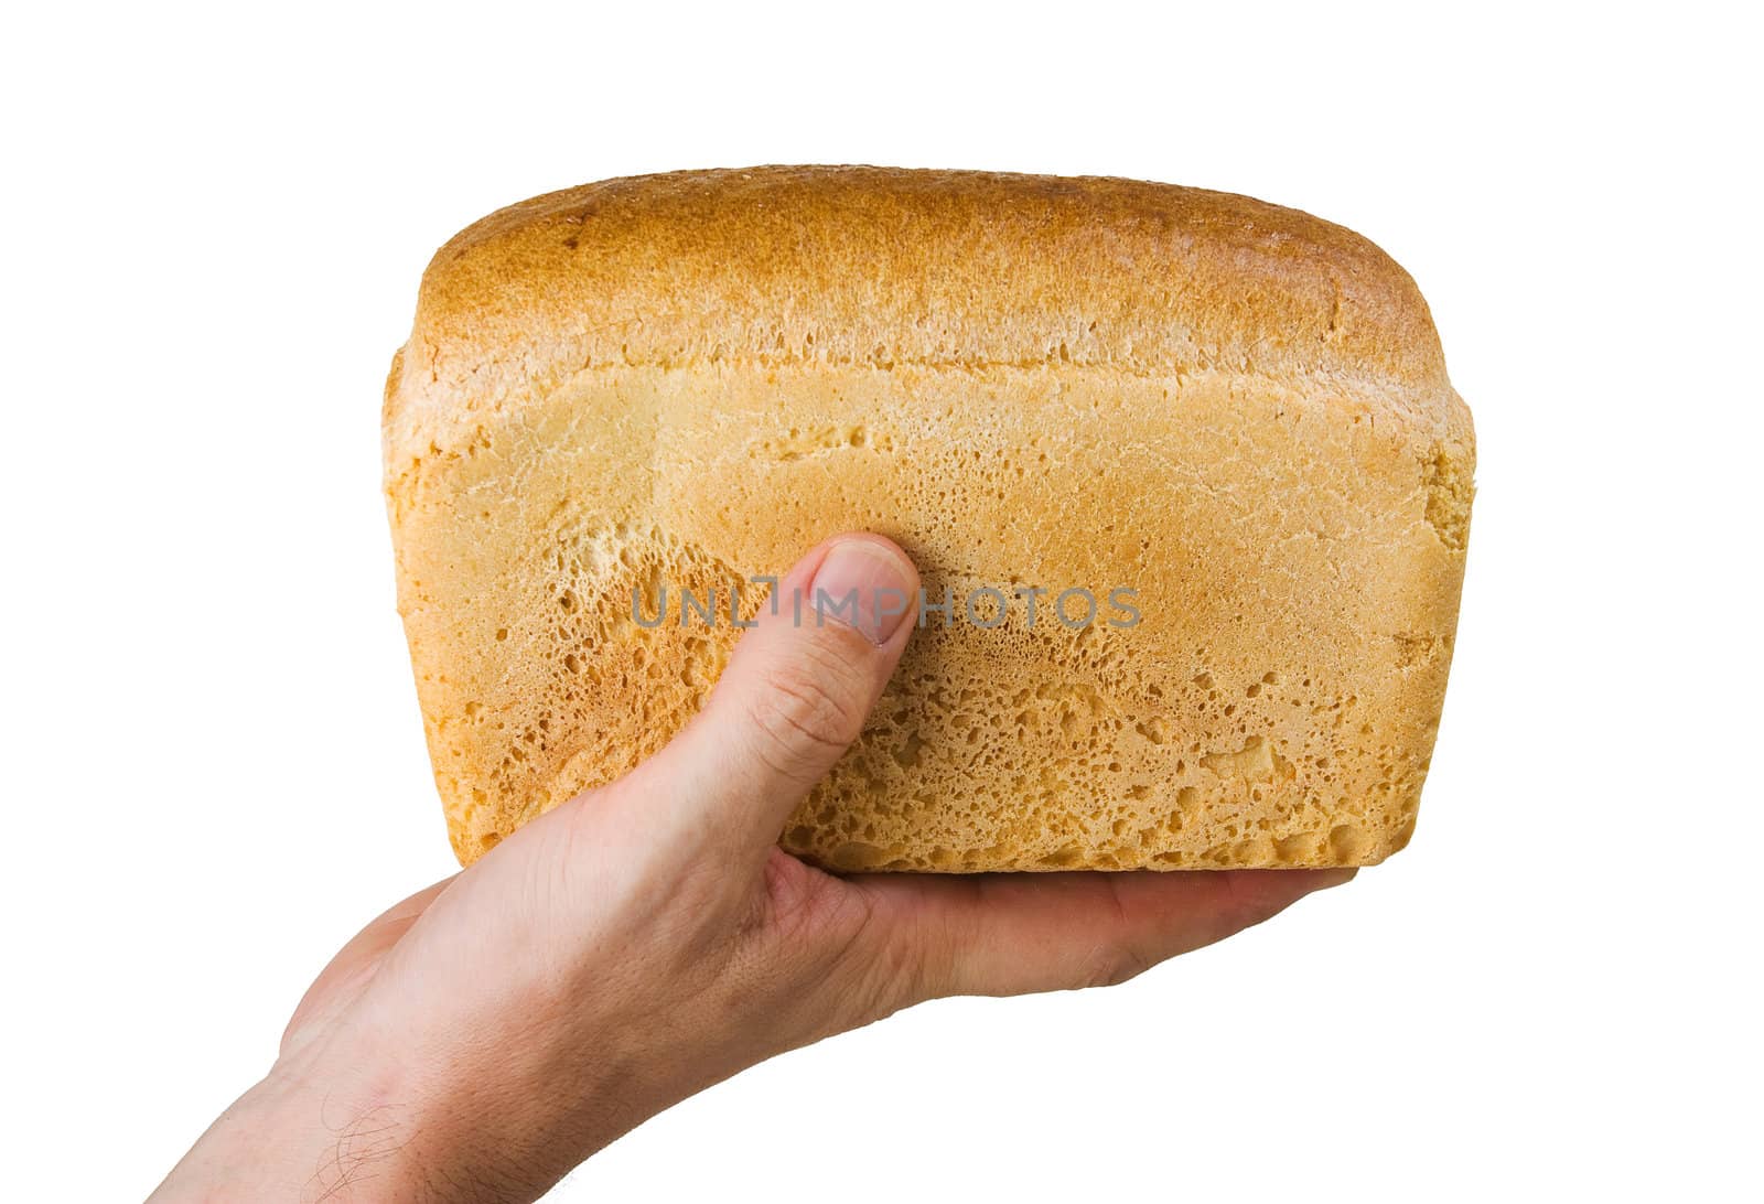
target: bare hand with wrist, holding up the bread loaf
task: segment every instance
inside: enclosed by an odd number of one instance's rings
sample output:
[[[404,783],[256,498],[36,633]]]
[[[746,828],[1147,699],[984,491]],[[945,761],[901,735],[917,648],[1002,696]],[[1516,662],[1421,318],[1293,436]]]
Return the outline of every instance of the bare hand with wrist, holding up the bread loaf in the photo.
[[[778,590],[917,584],[845,535]],[[1353,876],[836,877],[781,853],[912,637],[887,609],[762,614],[662,752],[369,923],[153,1200],[534,1200],[774,1054],[940,996],[1120,983]]]

